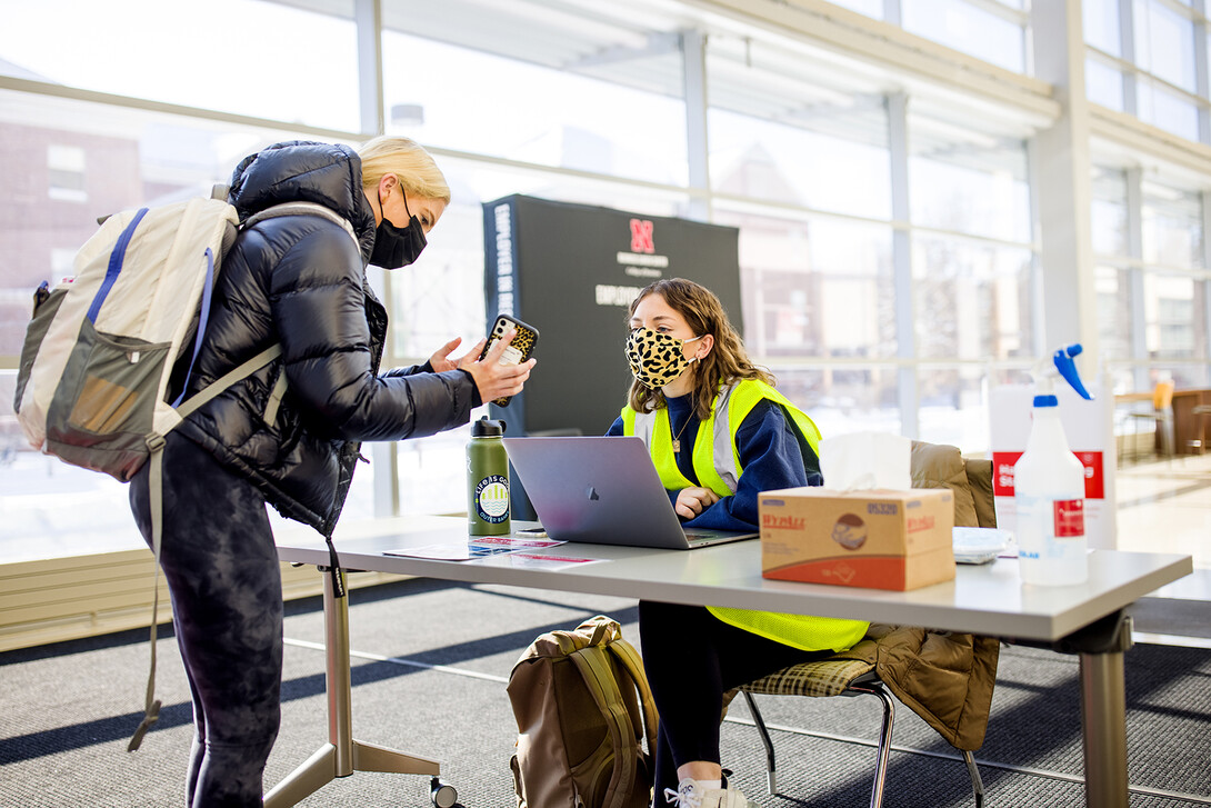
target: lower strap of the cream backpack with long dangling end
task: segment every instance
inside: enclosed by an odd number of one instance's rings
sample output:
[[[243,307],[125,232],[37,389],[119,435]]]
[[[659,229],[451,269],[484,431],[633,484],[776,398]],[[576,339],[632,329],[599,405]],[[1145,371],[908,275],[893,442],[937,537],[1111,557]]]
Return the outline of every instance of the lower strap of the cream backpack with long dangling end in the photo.
[[[236,382],[252,376],[281,355],[282,346],[280,344],[270,345],[235,369],[223,374],[213,384],[177,407],[177,413],[184,420],[189,413]],[[285,372],[282,376],[286,376]],[[143,706],[143,721],[139,722],[139,726],[134,729],[134,734],[131,735],[130,743],[126,745],[126,751],[128,752],[133,752],[139,747],[143,743],[143,737],[151,729],[151,724],[160,718],[161,703],[160,699],[155,698],[155,643],[160,615],[160,548],[163,538],[163,435],[153,432],[147,439],[148,449],[150,449],[150,455],[148,457],[148,510],[151,515],[151,554],[155,556],[155,581],[153,584],[155,594],[151,598],[151,664],[148,671],[148,692]]]

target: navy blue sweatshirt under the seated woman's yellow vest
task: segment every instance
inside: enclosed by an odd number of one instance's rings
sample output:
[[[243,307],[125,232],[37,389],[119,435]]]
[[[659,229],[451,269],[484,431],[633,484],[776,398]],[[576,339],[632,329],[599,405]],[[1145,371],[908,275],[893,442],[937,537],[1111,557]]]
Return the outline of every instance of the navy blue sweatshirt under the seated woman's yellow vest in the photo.
[[[690,399],[688,395],[677,396],[666,399],[666,402],[672,434],[681,435],[684,447],[677,454],[677,468],[687,480],[700,486],[694,474],[694,452],[690,448],[698,437],[700,422],[693,414]],[[607,435],[621,435],[622,429],[622,418],[619,417]],[[757,402],[736,432],[740,468],[744,469],[736,493],[723,497],[684,525],[719,531],[751,531],[757,526],[757,497],[763,491],[823,485],[816,457],[813,455],[809,468],[804,469],[803,453],[793,429],[780,405],[773,401]],[[673,504],[677,503],[677,493],[668,492]]]

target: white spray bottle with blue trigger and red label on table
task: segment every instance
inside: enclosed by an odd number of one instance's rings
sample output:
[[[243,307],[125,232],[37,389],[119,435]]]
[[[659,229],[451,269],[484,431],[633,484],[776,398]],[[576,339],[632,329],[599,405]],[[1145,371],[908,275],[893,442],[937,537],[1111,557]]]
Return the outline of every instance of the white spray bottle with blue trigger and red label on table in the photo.
[[[1035,363],[1034,422],[1026,452],[1014,466],[1017,557],[1022,580],[1043,586],[1083,584],[1089,578],[1085,540],[1085,466],[1068,448],[1060,423],[1056,377],[1092,399],[1073,357],[1081,346],[1061,348]]]

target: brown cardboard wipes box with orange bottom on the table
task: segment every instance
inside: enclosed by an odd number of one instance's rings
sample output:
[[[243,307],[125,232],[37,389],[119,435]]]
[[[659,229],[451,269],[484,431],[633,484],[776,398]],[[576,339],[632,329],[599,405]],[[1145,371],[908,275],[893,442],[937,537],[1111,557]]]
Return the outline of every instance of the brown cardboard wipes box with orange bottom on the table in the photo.
[[[948,488],[785,488],[758,510],[764,578],[894,590],[954,578]]]

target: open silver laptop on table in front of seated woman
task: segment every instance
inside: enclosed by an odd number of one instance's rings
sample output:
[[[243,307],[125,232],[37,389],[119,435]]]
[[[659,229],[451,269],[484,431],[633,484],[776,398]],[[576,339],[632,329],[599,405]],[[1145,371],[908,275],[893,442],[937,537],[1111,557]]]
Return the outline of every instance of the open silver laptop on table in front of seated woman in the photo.
[[[759,535],[683,528],[638,437],[506,437],[504,443],[539,521],[558,541],[690,550]]]

